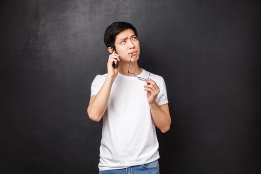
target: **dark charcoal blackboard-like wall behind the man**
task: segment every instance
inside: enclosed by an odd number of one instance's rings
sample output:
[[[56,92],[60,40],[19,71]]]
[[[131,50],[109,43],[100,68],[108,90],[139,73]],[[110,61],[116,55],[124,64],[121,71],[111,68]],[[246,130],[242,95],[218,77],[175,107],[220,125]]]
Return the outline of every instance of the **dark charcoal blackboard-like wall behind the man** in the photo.
[[[0,2],[0,174],[98,174],[105,28],[132,23],[139,66],[165,79],[161,174],[261,173],[259,0]]]

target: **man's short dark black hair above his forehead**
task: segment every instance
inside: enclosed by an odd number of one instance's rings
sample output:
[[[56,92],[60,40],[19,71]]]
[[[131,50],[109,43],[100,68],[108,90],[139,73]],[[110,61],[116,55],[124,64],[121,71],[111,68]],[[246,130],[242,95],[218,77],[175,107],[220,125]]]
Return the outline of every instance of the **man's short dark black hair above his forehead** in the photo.
[[[136,28],[128,23],[128,22],[113,22],[112,24],[110,24],[106,30],[105,30],[105,33],[104,33],[104,43],[106,45],[106,47],[112,47],[114,50],[116,50],[115,48],[115,38],[116,38],[116,35],[127,29],[127,28],[130,28],[134,31],[135,35],[138,37],[138,33],[137,33],[137,30]]]

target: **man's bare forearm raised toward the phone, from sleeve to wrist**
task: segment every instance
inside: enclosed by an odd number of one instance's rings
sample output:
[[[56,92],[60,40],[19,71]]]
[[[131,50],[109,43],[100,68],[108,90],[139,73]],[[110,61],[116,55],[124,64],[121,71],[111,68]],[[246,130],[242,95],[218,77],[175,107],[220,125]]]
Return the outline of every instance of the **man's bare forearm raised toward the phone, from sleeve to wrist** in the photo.
[[[93,121],[99,121],[103,116],[110,95],[110,90],[114,82],[113,77],[106,77],[104,84],[96,95],[92,95],[87,108],[88,116]]]

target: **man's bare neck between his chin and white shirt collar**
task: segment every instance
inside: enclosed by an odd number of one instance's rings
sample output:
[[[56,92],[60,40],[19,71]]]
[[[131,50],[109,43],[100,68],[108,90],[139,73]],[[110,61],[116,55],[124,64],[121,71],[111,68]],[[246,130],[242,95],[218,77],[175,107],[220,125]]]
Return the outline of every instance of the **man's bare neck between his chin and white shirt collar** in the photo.
[[[128,75],[128,67],[129,67],[129,65],[130,65],[130,68],[129,68],[129,72],[130,73],[133,73],[136,76],[141,74],[142,69],[138,66],[138,62],[137,61],[131,62],[131,64],[127,63],[127,62],[125,63],[123,61],[120,61],[119,62],[119,66],[118,66],[118,72],[120,74],[123,74],[124,76],[130,76],[130,75]]]

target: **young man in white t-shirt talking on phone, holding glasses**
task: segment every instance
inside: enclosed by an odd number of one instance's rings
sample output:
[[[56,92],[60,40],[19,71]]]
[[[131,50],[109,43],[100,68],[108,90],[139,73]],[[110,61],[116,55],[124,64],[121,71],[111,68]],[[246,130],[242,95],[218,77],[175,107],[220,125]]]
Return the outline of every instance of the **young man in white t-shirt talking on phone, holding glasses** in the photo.
[[[140,43],[130,23],[109,25],[104,43],[108,73],[94,78],[87,109],[91,120],[103,117],[99,172],[159,174],[155,125],[163,133],[171,125],[164,79],[138,66]]]

